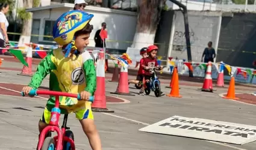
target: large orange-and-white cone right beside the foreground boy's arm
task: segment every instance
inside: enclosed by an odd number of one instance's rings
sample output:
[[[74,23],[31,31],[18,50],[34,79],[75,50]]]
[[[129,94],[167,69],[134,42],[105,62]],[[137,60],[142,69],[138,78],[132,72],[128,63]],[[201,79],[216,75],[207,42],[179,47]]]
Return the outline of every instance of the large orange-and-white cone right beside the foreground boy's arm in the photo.
[[[105,71],[104,71],[104,52],[99,52],[99,60],[96,67],[96,91],[92,103],[93,112],[114,112],[107,109],[105,95]]]

